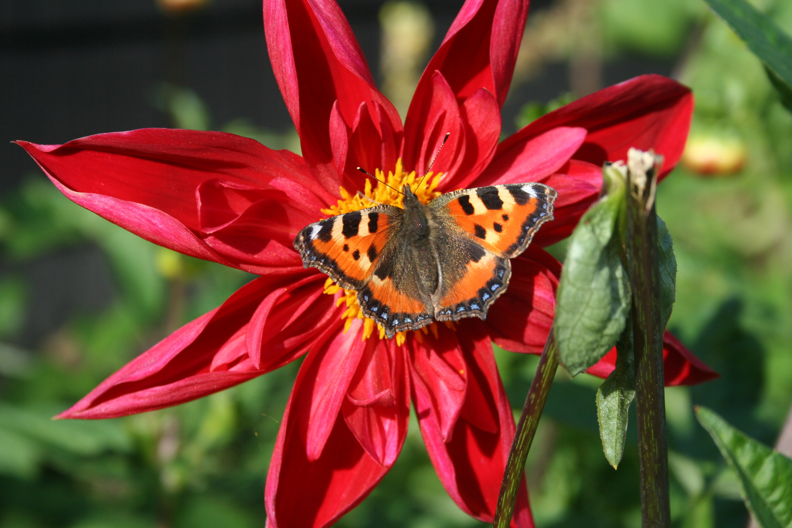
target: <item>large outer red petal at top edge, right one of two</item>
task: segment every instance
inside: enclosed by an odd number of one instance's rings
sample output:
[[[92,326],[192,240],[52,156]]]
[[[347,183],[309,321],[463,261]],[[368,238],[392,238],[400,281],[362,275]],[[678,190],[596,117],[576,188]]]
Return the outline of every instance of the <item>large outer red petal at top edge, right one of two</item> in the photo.
[[[413,103],[422,97],[434,72],[440,71],[460,104],[479,88],[487,89],[497,97],[499,104],[503,104],[512,81],[527,14],[525,0],[465,2],[440,49],[426,66]],[[408,121],[414,112],[410,104]]]

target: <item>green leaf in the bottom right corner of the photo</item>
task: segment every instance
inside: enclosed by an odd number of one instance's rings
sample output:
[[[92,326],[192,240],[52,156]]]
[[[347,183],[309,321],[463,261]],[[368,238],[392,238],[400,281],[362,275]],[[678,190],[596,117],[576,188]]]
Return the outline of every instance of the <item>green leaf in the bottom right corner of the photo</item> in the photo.
[[[792,526],[792,460],[749,438],[714,411],[695,408],[740,481],[743,500],[763,528]]]

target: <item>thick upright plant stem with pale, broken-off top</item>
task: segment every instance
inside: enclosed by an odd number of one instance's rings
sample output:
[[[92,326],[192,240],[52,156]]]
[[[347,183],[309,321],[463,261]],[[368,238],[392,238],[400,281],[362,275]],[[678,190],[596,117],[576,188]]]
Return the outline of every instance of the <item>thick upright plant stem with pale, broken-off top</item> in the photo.
[[[657,260],[656,173],[653,154],[628,154],[626,253],[633,289],[635,399],[638,415],[638,461],[644,528],[667,528],[668,443],[665,435],[663,321]]]

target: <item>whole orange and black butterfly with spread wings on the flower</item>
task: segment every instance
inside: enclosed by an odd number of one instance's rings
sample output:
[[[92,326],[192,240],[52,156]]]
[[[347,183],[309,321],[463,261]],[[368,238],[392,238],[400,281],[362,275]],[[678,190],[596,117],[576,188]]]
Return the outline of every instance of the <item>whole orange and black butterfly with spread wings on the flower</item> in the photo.
[[[421,203],[402,189],[404,209],[378,205],[310,224],[295,237],[305,268],[357,291],[366,317],[396,332],[432,321],[485,319],[506,291],[509,259],[553,219],[558,193],[544,184],[448,192]]]

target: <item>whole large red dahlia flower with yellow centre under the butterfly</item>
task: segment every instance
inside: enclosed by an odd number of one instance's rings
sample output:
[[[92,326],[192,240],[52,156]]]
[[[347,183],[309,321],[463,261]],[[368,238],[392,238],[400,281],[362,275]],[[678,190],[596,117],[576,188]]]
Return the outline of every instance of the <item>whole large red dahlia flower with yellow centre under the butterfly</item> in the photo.
[[[268,51],[302,158],[220,132],[145,129],[60,146],[20,142],[83,207],[169,249],[261,275],[59,417],[177,405],[307,354],[268,473],[271,526],[328,526],[360,503],[398,456],[410,400],[451,498],[492,521],[515,428],[492,342],[542,350],[561,272],[542,246],[568,236],[597,198],[604,161],[626,158],[630,146],[653,148],[668,173],[693,106],[687,88],[644,76],[551,112],[498,144],[527,6],[466,2],[402,126],[332,0],[265,0]],[[381,339],[357,317],[350,295],[303,269],[291,244],[309,223],[361,208],[355,195],[366,189],[365,177],[356,166],[409,181],[425,172],[446,132],[451,138],[434,167],[443,175],[437,191],[539,181],[558,191],[557,219],[512,260],[508,291],[486,321]],[[666,382],[714,375],[667,336]],[[608,359],[592,372],[606,376]],[[513,524],[532,526],[525,487]]]

